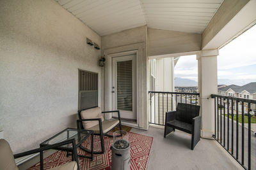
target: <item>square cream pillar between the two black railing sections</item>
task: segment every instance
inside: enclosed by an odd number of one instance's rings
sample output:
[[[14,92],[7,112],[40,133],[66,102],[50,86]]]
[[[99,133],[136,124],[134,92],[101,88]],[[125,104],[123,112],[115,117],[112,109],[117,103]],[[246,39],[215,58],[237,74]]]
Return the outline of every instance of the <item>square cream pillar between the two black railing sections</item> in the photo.
[[[200,92],[200,115],[202,115],[201,136],[211,138],[214,134],[214,99],[218,94],[217,56],[219,51],[202,50],[197,53],[198,89]]]

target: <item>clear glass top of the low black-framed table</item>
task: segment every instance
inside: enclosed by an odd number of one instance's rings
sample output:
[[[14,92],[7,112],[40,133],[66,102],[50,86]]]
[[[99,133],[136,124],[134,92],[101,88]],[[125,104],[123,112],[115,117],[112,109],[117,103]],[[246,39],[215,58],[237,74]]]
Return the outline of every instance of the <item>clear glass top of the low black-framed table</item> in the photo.
[[[79,143],[80,141],[83,141],[84,138],[88,138],[88,136],[90,136],[92,132],[90,131],[86,131],[86,130],[78,130],[77,129],[73,129],[73,128],[67,128],[63,131],[61,131],[60,133],[52,136],[52,138],[47,139],[46,141],[44,141],[43,143],[41,143],[41,145],[52,145],[52,144],[56,144],[56,143],[60,143],[62,141],[67,141],[69,139],[76,139],[76,145],[77,143]],[[81,136],[80,140],[78,140],[78,136]],[[66,147],[72,147],[71,144],[68,145],[64,145]]]

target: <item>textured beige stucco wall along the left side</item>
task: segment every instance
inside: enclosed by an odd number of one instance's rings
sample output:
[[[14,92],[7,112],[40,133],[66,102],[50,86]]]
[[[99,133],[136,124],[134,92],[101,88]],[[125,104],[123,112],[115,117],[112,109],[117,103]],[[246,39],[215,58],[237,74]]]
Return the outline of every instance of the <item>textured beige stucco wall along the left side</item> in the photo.
[[[100,50],[86,37],[101,41],[53,0],[0,1],[0,23],[0,129],[17,153],[76,127],[78,68],[99,73],[100,96]]]

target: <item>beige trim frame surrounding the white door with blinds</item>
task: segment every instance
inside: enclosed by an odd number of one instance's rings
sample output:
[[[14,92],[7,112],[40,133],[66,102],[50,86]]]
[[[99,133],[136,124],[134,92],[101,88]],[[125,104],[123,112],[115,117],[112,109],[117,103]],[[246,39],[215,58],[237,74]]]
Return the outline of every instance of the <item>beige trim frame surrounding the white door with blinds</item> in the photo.
[[[102,96],[102,103],[104,103],[104,109],[111,110],[111,57],[109,55],[115,55],[116,53],[122,52],[136,52],[136,63],[137,63],[137,124],[131,124],[131,127],[137,127],[140,129],[148,129],[148,110],[149,100],[148,100],[148,90],[149,90],[149,60],[147,57],[147,43],[134,43],[124,46],[115,46],[102,50],[102,55],[106,57],[104,74],[102,79],[104,79],[104,96]],[[140,81],[139,81],[140,80]],[[106,118],[111,118],[106,115]],[[125,122],[122,122],[122,124]]]

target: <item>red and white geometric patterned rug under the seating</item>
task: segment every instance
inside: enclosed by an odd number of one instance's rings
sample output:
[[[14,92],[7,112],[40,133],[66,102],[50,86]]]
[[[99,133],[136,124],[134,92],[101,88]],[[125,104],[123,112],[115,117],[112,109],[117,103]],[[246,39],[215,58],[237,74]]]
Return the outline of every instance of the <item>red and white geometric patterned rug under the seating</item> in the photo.
[[[111,132],[110,132],[111,133]],[[83,146],[90,149],[90,141],[88,138],[84,141]],[[129,132],[129,141],[131,143],[131,153],[130,159],[131,169],[146,169],[148,163],[148,156],[150,153],[150,149],[152,146],[153,138],[150,136],[145,136],[141,134],[136,134],[133,132]],[[104,146],[105,153],[104,154],[95,154],[93,155],[93,161],[90,159],[79,158],[79,167],[80,169],[111,169],[111,144],[113,143],[113,138],[104,137]],[[100,150],[100,139],[99,136],[95,136],[95,141],[93,143],[93,150]],[[81,155],[88,155],[88,153],[83,150],[77,149],[77,153]],[[67,152],[58,151],[50,155],[49,157],[44,159],[44,169],[50,169],[52,167],[61,166],[71,161],[71,157],[67,157]],[[35,164],[32,167],[29,167],[29,170],[40,169],[40,163]]]

